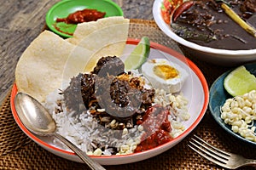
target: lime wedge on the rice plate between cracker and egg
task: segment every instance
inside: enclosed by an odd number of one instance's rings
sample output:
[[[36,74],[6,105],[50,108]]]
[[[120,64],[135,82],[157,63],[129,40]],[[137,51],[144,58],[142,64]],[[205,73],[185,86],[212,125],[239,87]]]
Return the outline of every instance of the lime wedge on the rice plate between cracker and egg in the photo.
[[[148,59],[150,52],[150,42],[148,37],[143,37],[138,42],[136,48],[125,59],[125,71],[131,71],[138,69]]]

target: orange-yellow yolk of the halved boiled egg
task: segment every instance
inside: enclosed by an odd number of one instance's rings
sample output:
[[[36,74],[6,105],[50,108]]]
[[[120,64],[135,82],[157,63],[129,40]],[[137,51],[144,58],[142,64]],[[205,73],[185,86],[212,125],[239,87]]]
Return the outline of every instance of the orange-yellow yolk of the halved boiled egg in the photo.
[[[170,65],[154,65],[153,71],[156,76],[164,80],[178,76],[178,71]]]

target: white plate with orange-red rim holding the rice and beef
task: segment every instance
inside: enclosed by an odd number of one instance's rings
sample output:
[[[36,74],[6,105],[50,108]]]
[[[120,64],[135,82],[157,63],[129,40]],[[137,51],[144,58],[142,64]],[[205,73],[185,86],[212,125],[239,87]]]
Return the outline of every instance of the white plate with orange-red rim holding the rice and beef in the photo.
[[[126,42],[124,54],[130,54],[139,41],[140,40],[128,39]],[[189,73],[189,77],[183,84],[181,93],[183,93],[183,95],[189,100],[188,109],[190,113],[190,118],[188,121],[183,122],[183,125],[185,127],[183,133],[177,136],[177,138],[167,142],[166,144],[159,145],[153,149],[121,156],[91,156],[92,159],[98,161],[102,165],[118,165],[142,161],[150,157],[157,156],[160,153],[171,149],[193,131],[198,123],[201,122],[202,117],[207,111],[209,91],[207,81],[201,73],[200,69],[192,61],[184,57],[182,54],[177,53],[171,48],[167,48],[155,42],[150,42],[150,48],[151,49],[149,59],[168,59],[169,61],[180,65],[184,70]],[[54,144],[53,137],[42,137],[35,135],[28,131],[26,127],[24,127],[15,111],[15,94],[17,94],[17,88],[14,84],[10,99],[11,110],[13,116],[15,117],[15,121],[17,122],[21,130],[26,133],[26,135],[34,142],[42,146],[45,150],[49,150],[49,152],[55,154],[56,156],[61,156],[70,161],[82,162],[79,157],[73,153],[73,151],[64,149],[60,145]]]

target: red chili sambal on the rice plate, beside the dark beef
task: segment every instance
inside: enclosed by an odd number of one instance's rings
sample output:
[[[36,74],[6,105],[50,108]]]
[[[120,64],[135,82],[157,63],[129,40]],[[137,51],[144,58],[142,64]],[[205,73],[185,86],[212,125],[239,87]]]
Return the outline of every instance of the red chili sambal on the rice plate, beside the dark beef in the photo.
[[[135,152],[150,150],[172,140],[170,135],[172,127],[168,121],[168,115],[170,115],[170,111],[161,105],[148,108],[143,120],[137,121],[138,125],[143,126],[145,133],[143,133],[142,142],[137,145]]]

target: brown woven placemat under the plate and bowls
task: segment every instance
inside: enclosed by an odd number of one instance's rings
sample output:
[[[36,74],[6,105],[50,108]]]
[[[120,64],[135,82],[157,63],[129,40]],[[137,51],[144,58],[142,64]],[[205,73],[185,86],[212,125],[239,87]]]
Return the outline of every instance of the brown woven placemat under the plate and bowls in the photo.
[[[148,36],[152,42],[158,42],[182,53],[179,46],[169,37],[166,37],[153,20],[131,20],[129,37],[141,38],[143,36]],[[183,54],[191,59],[195,65],[199,66],[207,78],[209,87],[220,74],[227,70],[197,60],[194,56],[186,54],[186,51],[183,51]],[[15,123],[9,103],[10,94],[4,99],[3,105],[0,108],[0,169],[89,169],[89,167],[83,163],[68,161],[53,155],[29,139]],[[207,110],[206,115],[195,130],[172,149],[148,160],[104,167],[109,170],[223,169],[189,149],[187,144],[189,144],[189,139],[193,134],[200,136],[202,139],[206,139],[207,142],[220,149],[232,151],[250,158],[256,157],[255,147],[247,145],[235,139],[229,133],[226,133],[224,129],[219,127],[217,122],[213,120],[210,111]],[[251,168],[252,167],[247,167],[247,169]],[[246,168],[243,167],[242,169]]]

